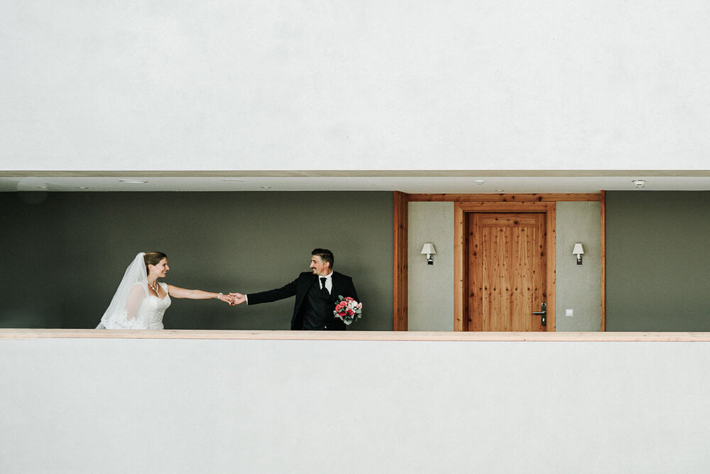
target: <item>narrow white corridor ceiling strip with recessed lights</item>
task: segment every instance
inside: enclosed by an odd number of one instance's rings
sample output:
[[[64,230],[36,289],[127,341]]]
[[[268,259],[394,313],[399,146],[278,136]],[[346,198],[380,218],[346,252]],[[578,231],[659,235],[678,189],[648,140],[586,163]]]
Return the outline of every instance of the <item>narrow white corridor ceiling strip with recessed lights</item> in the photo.
[[[317,173],[312,171],[245,172],[241,175],[239,172],[222,172],[214,173],[216,176],[189,176],[188,172],[169,171],[126,173],[43,172],[34,173],[33,176],[32,172],[13,172],[9,174],[14,176],[0,176],[0,191],[399,190],[405,193],[596,193],[599,190],[636,190],[632,182],[635,179],[646,181],[645,188],[639,190],[710,190],[710,173],[707,171],[600,171],[599,176],[574,176],[594,174],[591,171],[515,172],[528,176],[509,176],[511,172],[505,171],[486,171],[479,176],[468,171],[340,171],[323,172],[321,176],[313,176]],[[72,174],[76,176],[70,176]],[[395,174],[405,176],[392,176]],[[121,181],[124,179],[145,183]],[[479,184],[476,181],[484,182]]]

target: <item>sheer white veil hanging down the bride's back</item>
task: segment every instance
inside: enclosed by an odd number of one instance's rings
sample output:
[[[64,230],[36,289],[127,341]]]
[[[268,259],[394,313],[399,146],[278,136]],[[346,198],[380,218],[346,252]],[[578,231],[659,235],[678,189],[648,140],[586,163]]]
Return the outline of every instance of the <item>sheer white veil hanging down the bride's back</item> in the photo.
[[[141,305],[148,296],[148,274],[140,252],[126,269],[124,279],[111,299],[97,329],[141,328]]]

